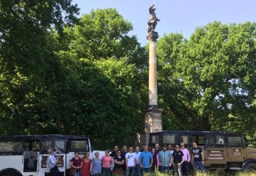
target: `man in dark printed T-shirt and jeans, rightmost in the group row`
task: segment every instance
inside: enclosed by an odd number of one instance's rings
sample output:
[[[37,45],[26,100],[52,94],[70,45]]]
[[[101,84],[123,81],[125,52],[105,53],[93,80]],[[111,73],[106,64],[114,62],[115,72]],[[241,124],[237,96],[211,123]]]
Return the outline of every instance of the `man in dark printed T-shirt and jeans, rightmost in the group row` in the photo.
[[[206,171],[203,158],[202,148],[198,146],[197,142],[192,142],[192,162],[194,165],[194,172],[198,171],[198,167],[202,172]]]

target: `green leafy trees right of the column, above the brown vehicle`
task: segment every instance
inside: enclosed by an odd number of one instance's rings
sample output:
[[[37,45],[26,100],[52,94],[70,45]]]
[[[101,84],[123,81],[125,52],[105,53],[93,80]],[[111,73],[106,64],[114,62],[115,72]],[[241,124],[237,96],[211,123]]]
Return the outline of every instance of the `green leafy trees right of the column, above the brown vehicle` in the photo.
[[[255,31],[250,22],[212,22],[198,27],[189,40],[180,34],[159,40],[166,128],[254,135]]]

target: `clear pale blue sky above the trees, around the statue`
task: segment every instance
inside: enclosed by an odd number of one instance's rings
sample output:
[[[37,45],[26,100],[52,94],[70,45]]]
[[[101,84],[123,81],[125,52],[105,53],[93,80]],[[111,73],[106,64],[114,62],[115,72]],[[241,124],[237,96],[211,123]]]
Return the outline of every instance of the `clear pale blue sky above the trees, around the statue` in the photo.
[[[159,38],[164,34],[181,33],[190,38],[198,26],[218,21],[256,22],[256,0],[73,0],[80,8],[80,15],[91,10],[116,8],[122,17],[131,22],[138,42],[145,46],[149,7],[155,3],[160,22],[155,31]]]

